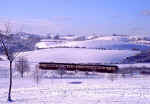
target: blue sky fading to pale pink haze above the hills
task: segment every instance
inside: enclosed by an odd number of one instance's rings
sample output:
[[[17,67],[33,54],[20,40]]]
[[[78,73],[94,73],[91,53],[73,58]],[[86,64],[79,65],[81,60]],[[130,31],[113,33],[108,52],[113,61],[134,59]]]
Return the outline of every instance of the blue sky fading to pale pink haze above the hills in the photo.
[[[25,32],[150,35],[150,0],[1,0],[0,27]]]

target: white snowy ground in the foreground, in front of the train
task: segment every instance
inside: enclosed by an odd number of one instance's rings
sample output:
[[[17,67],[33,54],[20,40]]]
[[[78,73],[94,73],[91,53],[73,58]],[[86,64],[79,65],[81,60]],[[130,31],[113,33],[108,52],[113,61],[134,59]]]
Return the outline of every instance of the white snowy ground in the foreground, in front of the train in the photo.
[[[39,85],[14,79],[14,102],[7,102],[7,88],[0,88],[0,104],[149,104],[149,78],[104,74],[96,79],[44,79]]]

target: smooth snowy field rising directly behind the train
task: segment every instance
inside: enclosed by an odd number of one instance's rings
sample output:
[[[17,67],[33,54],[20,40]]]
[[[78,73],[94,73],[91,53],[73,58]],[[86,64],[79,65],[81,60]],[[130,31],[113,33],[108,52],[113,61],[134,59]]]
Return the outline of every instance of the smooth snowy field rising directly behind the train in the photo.
[[[51,48],[22,55],[30,62],[60,62],[60,63],[120,63],[123,59],[137,54],[130,50],[96,50],[81,48]]]

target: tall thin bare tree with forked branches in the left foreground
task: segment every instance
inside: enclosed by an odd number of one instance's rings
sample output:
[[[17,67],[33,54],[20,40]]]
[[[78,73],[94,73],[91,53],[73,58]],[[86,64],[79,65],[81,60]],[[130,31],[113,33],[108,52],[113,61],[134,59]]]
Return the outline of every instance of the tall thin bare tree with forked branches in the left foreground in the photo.
[[[20,52],[24,49],[24,47],[20,47],[18,53],[16,53],[16,45],[17,40],[13,38],[13,34],[11,34],[12,25],[10,22],[4,25],[5,30],[0,31],[0,42],[3,47],[4,54],[6,55],[9,61],[9,91],[8,91],[8,101],[12,101],[11,99],[11,89],[12,89],[12,63],[14,59],[20,54]],[[31,44],[31,41],[28,42]],[[19,44],[20,45],[20,44]],[[27,45],[27,44],[26,44]],[[25,46],[25,45],[24,45]]]

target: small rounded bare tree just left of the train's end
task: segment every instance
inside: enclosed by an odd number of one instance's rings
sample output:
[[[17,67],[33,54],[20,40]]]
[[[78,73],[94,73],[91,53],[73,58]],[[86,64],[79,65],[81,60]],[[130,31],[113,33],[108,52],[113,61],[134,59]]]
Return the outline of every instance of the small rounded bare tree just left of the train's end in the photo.
[[[21,77],[23,78],[24,73],[30,71],[28,60],[23,56],[19,57],[15,62],[15,69],[20,73]]]

